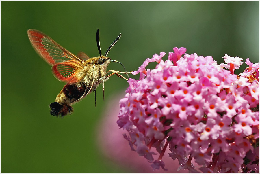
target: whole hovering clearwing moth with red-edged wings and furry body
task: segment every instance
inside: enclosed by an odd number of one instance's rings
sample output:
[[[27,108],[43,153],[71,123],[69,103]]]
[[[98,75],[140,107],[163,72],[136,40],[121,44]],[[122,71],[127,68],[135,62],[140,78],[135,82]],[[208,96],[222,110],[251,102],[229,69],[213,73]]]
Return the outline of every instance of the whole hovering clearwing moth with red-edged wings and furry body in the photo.
[[[29,29],[27,33],[35,51],[52,66],[53,75],[58,80],[66,83],[57,95],[55,101],[49,105],[50,114],[53,116],[63,117],[67,114],[71,114],[73,112],[71,105],[80,101],[92,91],[95,92],[96,105],[96,88],[100,83],[103,84],[103,99],[105,100],[104,82],[114,74],[127,80],[127,78],[123,77],[120,73],[127,74],[127,76],[128,73],[131,73],[115,70],[106,72],[110,62],[120,63],[106,56],[114,44],[120,39],[121,33],[109,46],[105,55],[102,56],[98,29],[96,32],[96,42],[100,56],[92,58],[84,52],[79,52],[77,56],[72,54],[51,39],[51,37],[38,30]],[[124,67],[122,63],[120,64]]]

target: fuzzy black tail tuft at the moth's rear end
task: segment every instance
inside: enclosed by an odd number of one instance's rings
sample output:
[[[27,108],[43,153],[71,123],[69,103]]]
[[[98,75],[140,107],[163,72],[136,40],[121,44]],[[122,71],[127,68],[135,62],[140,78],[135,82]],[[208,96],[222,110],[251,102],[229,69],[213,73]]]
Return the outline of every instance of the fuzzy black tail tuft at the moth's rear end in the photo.
[[[51,108],[51,115],[52,116],[65,116],[67,114],[71,114],[73,112],[73,108],[69,105],[61,105],[58,102],[53,102],[50,105]]]

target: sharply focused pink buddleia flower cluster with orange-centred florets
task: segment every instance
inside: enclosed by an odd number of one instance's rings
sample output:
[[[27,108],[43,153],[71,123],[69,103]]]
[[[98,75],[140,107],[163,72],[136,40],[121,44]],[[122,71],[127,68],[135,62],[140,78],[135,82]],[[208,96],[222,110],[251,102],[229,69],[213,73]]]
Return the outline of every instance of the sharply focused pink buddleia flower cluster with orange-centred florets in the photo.
[[[147,58],[133,72],[139,79],[128,80],[117,124],[131,150],[153,169],[167,170],[170,157],[190,172],[259,172],[259,63],[246,59],[239,76],[242,58],[225,54],[218,65],[173,49],[165,61],[164,52]],[[155,69],[146,69],[150,62]]]

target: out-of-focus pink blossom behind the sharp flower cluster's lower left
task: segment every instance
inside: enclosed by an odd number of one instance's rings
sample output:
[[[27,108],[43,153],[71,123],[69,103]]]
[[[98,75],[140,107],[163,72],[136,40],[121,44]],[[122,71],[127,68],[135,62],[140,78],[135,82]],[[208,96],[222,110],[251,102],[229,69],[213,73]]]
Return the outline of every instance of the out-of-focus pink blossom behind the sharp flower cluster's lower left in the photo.
[[[126,172],[166,172],[164,171],[164,169],[156,169],[156,171],[154,171],[151,167],[152,163],[149,163],[148,160],[144,158],[144,156],[138,155],[138,153],[136,152],[136,146],[133,146],[133,143],[130,138],[134,138],[134,136],[137,135],[130,136],[126,130],[118,129],[118,125],[116,124],[116,115],[120,111],[118,101],[122,97],[124,97],[124,94],[119,92],[113,95],[112,98],[107,100],[109,102],[103,110],[103,118],[99,120],[98,127],[96,128],[96,131],[99,132],[96,143],[100,149],[98,153],[103,155],[104,160],[110,161],[110,163],[115,166],[120,166],[120,168],[125,169]],[[142,136],[142,138],[144,138],[142,133],[139,135]],[[132,148],[131,150],[129,146]],[[170,150],[166,149],[165,153],[170,153]],[[159,156],[159,153],[153,155],[153,157],[155,156]],[[171,172],[188,172],[187,170],[177,171],[179,163],[177,160],[173,162],[172,158],[168,158],[168,160],[165,159],[164,164],[167,165],[167,169]]]

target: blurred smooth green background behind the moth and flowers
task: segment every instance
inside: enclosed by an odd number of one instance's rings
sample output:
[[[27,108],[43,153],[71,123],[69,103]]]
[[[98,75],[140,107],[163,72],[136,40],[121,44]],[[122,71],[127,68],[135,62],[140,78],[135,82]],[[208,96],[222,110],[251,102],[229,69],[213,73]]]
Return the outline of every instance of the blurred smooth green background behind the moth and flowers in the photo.
[[[96,126],[109,103],[102,87],[96,108],[92,93],[73,105],[71,116],[50,116],[48,105],[64,83],[53,77],[27,37],[27,29],[37,29],[74,54],[94,57],[99,55],[97,28],[103,54],[122,33],[108,56],[128,71],[155,53],[166,52],[166,60],[173,47],[212,56],[218,64],[225,53],[259,61],[258,1],[1,1],[2,173],[133,172],[104,157],[97,145]],[[108,69],[123,71],[115,63]],[[106,99],[127,84],[111,77],[105,82]]]

